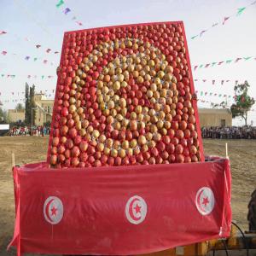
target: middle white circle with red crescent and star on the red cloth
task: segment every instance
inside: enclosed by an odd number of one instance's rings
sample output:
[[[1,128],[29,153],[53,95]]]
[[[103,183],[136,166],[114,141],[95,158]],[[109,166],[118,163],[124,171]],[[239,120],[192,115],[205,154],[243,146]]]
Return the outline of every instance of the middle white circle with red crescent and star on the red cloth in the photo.
[[[147,215],[147,204],[141,196],[134,195],[126,203],[126,218],[131,224],[141,224]]]

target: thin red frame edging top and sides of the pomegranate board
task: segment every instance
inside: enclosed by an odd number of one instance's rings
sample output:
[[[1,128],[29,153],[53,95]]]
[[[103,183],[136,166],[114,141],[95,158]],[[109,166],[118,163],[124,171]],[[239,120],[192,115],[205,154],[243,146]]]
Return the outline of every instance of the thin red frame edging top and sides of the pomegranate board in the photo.
[[[76,30],[76,31],[71,31],[71,32],[64,32],[64,37],[63,37],[63,44],[62,44],[62,49],[61,49],[61,62],[63,60],[63,54],[64,54],[64,47],[65,43],[67,40],[67,35],[73,32],[84,32],[84,31],[90,31],[90,30],[98,30],[102,28],[113,28],[113,27],[125,27],[125,26],[147,26],[147,25],[155,25],[155,24],[179,24],[182,26],[182,31],[183,31],[183,39],[184,39],[184,47],[186,49],[186,59],[188,61],[188,67],[189,67],[189,83],[190,83],[190,89],[191,89],[191,94],[195,93],[195,87],[194,87],[194,80],[192,76],[192,69],[191,69],[191,64],[190,64],[190,59],[189,59],[189,49],[188,49],[188,43],[187,43],[187,38],[185,34],[185,29],[183,25],[183,21],[178,20],[178,21],[161,21],[161,22],[149,22],[149,23],[137,23],[137,24],[125,24],[125,25],[117,25],[117,26],[102,26],[102,27],[96,27],[96,28],[87,28],[87,29],[82,29],[82,30]],[[48,151],[47,151],[47,163],[49,165],[49,160],[50,160],[50,149],[51,149],[51,143],[52,143],[52,138],[53,138],[53,131],[54,131],[54,122],[55,122],[55,113],[56,113],[56,108],[57,108],[57,92],[58,92],[58,85],[60,84],[60,78],[58,76],[57,79],[57,84],[56,84],[56,90],[55,90],[55,103],[54,103],[54,108],[53,108],[53,115],[52,115],[52,122],[51,122],[51,128],[50,128],[50,134],[49,134],[49,145],[48,145]],[[201,125],[200,125],[200,120],[199,120],[199,114],[198,114],[198,108],[196,104],[196,100],[191,100],[192,106],[195,110],[195,128],[198,133],[198,140],[199,140],[199,151],[201,153],[201,161],[205,160],[204,154],[203,154],[203,144],[202,144],[202,138],[201,138]]]

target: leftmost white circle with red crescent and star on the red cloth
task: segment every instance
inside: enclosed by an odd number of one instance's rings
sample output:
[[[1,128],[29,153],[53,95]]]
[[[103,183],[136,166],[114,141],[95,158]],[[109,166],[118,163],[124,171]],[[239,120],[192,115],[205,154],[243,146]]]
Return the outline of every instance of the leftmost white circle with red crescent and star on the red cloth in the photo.
[[[44,218],[49,224],[58,224],[63,217],[63,204],[60,198],[49,196],[44,201]]]

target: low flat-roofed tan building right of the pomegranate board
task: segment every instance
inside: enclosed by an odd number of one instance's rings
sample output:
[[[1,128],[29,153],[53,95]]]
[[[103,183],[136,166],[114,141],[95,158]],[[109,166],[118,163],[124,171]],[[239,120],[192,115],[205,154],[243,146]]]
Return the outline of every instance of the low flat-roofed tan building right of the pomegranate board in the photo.
[[[199,108],[201,127],[232,126],[232,113],[230,109]]]

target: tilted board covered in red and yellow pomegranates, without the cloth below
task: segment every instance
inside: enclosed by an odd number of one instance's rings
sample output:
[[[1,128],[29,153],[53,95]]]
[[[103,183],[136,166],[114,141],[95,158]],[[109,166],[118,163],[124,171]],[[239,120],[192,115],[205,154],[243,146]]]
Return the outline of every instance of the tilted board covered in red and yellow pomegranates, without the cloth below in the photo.
[[[52,167],[204,160],[183,23],[65,32]]]

